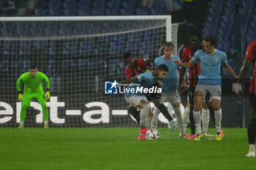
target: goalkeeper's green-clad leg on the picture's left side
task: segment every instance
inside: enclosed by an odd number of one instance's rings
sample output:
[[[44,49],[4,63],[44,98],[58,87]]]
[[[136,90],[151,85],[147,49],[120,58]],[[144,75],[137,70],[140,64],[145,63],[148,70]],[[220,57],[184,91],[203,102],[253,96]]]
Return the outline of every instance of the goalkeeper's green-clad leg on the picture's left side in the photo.
[[[24,121],[26,117],[26,108],[30,107],[31,99],[33,98],[33,93],[23,93],[23,100],[21,102],[20,109],[20,126],[19,128],[24,127]]]

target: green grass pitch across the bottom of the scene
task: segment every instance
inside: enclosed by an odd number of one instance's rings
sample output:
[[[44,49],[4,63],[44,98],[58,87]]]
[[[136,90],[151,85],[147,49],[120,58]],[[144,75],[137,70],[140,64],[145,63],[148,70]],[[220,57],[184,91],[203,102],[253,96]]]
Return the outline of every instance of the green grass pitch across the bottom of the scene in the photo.
[[[159,128],[158,141],[137,141],[138,128],[0,128],[0,169],[256,169],[246,158],[246,129],[224,138],[181,139]],[[214,134],[214,129],[209,132]]]

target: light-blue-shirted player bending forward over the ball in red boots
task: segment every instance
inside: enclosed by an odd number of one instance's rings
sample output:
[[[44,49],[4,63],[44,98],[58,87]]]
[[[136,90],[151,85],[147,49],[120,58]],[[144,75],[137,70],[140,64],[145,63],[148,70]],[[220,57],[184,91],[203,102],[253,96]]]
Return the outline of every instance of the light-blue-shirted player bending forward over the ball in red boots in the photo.
[[[123,80],[119,83],[119,85],[123,85],[132,82],[125,90],[124,98],[129,104],[140,109],[140,135],[138,136],[138,140],[146,140],[146,131],[151,124],[153,113],[151,112],[151,108],[145,94],[141,91],[137,91],[136,89],[141,87],[151,88],[157,80],[164,79],[167,72],[167,66],[162,65],[159,66],[158,69],[136,75],[135,77],[129,77],[129,79]]]

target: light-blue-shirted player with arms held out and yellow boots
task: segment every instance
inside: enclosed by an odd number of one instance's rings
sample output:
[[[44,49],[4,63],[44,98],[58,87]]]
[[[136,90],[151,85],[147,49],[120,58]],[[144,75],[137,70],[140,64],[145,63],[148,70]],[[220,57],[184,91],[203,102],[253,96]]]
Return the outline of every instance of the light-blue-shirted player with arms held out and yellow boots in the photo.
[[[220,108],[221,99],[221,84],[222,79],[220,75],[221,65],[224,66],[225,70],[233,75],[233,77],[238,77],[233,69],[227,63],[227,55],[220,50],[216,50],[217,41],[214,36],[207,36],[203,41],[204,50],[197,50],[194,57],[186,62],[181,63],[176,60],[178,66],[192,67],[200,61],[200,75],[198,77],[197,85],[195,88],[194,97],[194,110],[193,117],[195,121],[195,130],[197,137],[195,140],[199,141],[203,138],[201,133],[201,117],[200,109],[203,104],[203,99],[206,97],[206,93],[210,93],[210,98],[212,105],[214,107],[214,117],[216,126],[216,140],[220,141],[222,139],[221,122],[222,122],[222,109]]]

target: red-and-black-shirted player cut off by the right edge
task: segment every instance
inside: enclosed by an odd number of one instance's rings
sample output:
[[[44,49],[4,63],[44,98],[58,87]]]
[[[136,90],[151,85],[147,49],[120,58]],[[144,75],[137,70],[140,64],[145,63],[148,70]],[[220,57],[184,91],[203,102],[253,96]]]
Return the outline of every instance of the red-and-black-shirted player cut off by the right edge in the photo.
[[[247,128],[247,136],[249,141],[249,152],[247,157],[255,157],[255,137],[256,137],[256,41],[252,42],[247,47],[247,53],[245,56],[244,64],[241,68],[238,82],[236,83],[236,93],[241,96],[243,89],[241,88],[241,83],[244,81],[247,73],[249,72],[249,67],[253,64],[253,80],[249,88],[250,92],[250,120]]]

